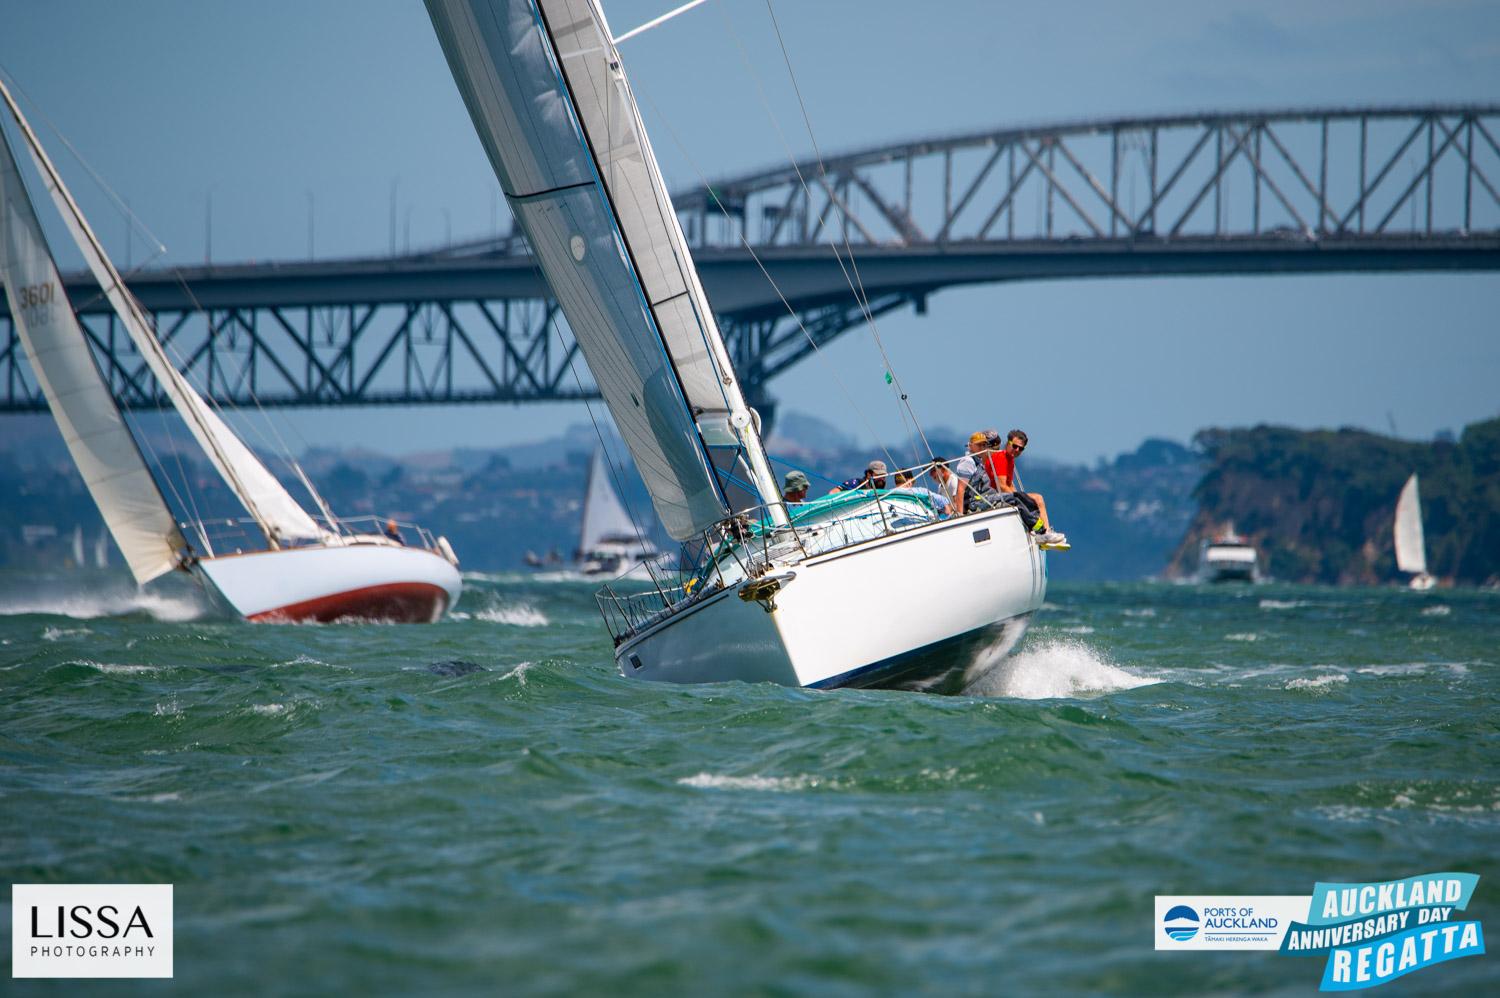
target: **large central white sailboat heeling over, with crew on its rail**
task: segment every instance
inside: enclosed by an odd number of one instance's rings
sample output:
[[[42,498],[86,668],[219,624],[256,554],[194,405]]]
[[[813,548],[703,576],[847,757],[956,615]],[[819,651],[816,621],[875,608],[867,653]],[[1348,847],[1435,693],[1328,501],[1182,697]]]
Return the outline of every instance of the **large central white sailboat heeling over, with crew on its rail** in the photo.
[[[1046,554],[1014,509],[788,504],[596,0],[428,0],[512,213],[694,570],[604,588],[627,677],[957,690],[1020,639]]]

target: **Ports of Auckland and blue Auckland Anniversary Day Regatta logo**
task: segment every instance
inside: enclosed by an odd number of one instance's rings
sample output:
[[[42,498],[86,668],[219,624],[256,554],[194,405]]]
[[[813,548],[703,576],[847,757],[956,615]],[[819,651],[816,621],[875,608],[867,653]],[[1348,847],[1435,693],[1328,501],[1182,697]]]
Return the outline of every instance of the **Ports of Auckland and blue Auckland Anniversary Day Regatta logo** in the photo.
[[[1482,956],[1478,920],[1455,918],[1476,873],[1424,873],[1324,884],[1311,896],[1158,896],[1158,950],[1275,950],[1322,956],[1318,990],[1360,990],[1466,956]]]

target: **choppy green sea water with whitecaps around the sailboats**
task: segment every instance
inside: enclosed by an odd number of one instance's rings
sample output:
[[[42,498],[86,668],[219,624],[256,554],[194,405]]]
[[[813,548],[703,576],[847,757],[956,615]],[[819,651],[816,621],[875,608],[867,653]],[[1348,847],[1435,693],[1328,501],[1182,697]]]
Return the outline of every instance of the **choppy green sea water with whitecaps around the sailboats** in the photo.
[[[1154,896],[1436,870],[1500,932],[1500,594],[1058,584],[938,698],[627,681],[588,584],[466,587],[252,626],[0,575],[0,873],[176,885],[174,980],[0,990],[1310,993],[1156,953]]]

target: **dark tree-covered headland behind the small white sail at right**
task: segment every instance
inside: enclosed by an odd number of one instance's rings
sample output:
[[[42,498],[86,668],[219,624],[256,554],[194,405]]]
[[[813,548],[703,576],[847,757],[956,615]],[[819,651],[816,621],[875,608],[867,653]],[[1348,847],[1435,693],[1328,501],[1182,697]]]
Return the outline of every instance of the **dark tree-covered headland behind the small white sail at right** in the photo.
[[[1402,578],[1392,521],[1401,485],[1416,471],[1431,573],[1466,585],[1500,579],[1500,419],[1468,426],[1456,443],[1284,426],[1206,429],[1196,441],[1208,473],[1174,573],[1191,573],[1198,542],[1233,521],[1276,579]]]

